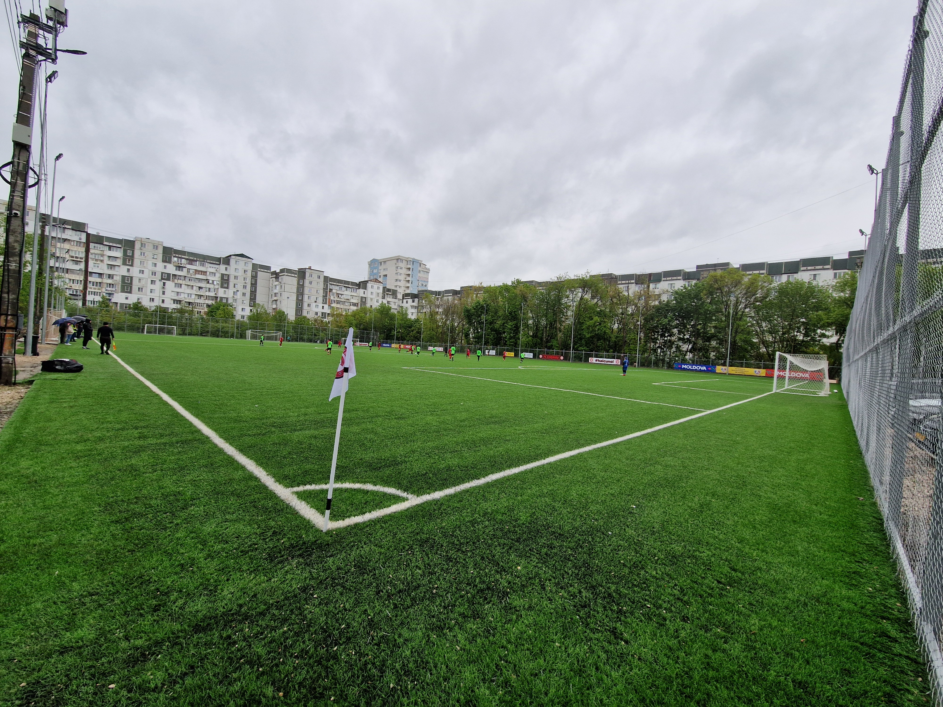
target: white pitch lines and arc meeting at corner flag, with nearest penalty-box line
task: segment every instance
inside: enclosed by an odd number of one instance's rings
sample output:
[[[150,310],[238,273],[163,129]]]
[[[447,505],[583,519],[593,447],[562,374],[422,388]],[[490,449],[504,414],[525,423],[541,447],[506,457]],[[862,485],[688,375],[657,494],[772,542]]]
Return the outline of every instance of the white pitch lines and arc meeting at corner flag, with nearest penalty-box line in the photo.
[[[95,340],[98,343],[97,339]],[[242,467],[248,469],[252,474],[260,481],[262,484],[268,486],[270,490],[274,492],[278,498],[282,501],[288,503],[292,508],[294,508],[302,518],[306,518],[312,524],[318,528],[324,527],[324,517],[315,511],[311,506],[309,506],[305,501],[302,501],[297,496],[295,492],[298,491],[307,491],[307,490],[319,490],[326,489],[327,485],[317,484],[317,485],[303,485],[303,486],[293,486],[288,488],[276,482],[265,469],[259,467],[252,459],[249,459],[231,444],[226,442],[221,436],[213,432],[206,424],[201,422],[199,419],[193,417],[190,412],[188,412],[183,405],[177,403],[173,398],[171,398],[163,390],[155,386],[149,380],[144,378],[137,370],[132,369],[124,361],[119,358],[116,354],[111,354],[111,357],[114,358],[118,363],[120,363],[128,372],[131,373],[135,378],[137,378],[145,386],[153,390],[165,403],[169,404],[174,408],[180,415],[188,419],[190,423],[196,427],[200,432],[209,437],[209,439],[219,447],[223,452],[226,452],[233,459],[238,461]],[[439,372],[439,371],[430,371],[430,372]],[[447,374],[447,375],[455,375]],[[459,376],[460,378],[472,378],[473,376]],[[490,381],[490,378],[483,378],[481,380]],[[496,381],[496,383],[506,383],[506,381]],[[517,386],[522,386],[525,384],[512,384]],[[544,387],[544,386],[529,386],[529,387]],[[550,388],[551,390],[559,390],[561,388]],[[579,390],[568,390],[565,392],[581,392]],[[615,439],[608,439],[604,442],[597,442],[596,444],[590,444],[587,447],[581,447],[578,450],[571,450],[570,452],[562,452],[559,454],[554,454],[553,456],[548,456],[546,459],[540,459],[536,462],[531,462],[530,464],[524,464],[521,467],[515,467],[514,469],[505,469],[504,471],[498,471],[497,473],[489,474],[481,479],[475,479],[474,481],[467,482],[465,484],[460,484],[457,486],[452,486],[451,488],[443,488],[441,491],[434,491],[432,493],[427,493],[422,496],[411,496],[405,491],[400,491],[396,488],[390,488],[389,486],[374,486],[372,484],[342,484],[340,486],[346,488],[362,488],[365,490],[376,490],[383,491],[384,493],[389,493],[395,496],[405,496],[406,501],[400,503],[395,503],[393,505],[387,506],[386,508],[380,508],[376,511],[371,511],[370,513],[365,513],[360,516],[354,516],[352,518],[344,518],[343,520],[331,521],[327,526],[327,530],[339,530],[340,528],[346,528],[350,525],[356,525],[357,523],[365,523],[368,520],[373,520],[375,518],[382,518],[383,516],[389,516],[393,513],[398,513],[400,511],[405,511],[407,508],[412,508],[413,506],[419,505],[420,503],[425,503],[426,501],[438,501],[438,499],[445,498],[446,496],[452,496],[460,491],[465,491],[469,488],[474,488],[475,486],[482,486],[491,483],[492,481],[497,481],[498,479],[503,479],[505,476],[511,476],[512,474],[520,473],[521,471],[526,471],[527,469],[536,469],[537,467],[542,467],[545,464],[552,464],[554,462],[560,461],[561,459],[569,459],[571,456],[576,456],[577,454],[582,454],[585,452],[592,452],[593,450],[602,449],[603,447],[608,447],[613,444],[619,444],[620,442],[625,442],[629,439],[635,439],[643,435],[649,435],[653,432],[658,432],[659,430],[665,430],[674,425],[679,425],[682,422],[687,422],[692,419],[703,418],[705,415],[711,415],[712,413],[720,412],[721,410],[727,410],[731,407],[736,407],[736,405],[742,405],[743,403],[751,403],[754,400],[759,400],[760,398],[765,398],[768,395],[772,395],[772,390],[760,395],[754,396],[753,398],[748,398],[747,400],[739,400],[736,403],[730,403],[727,405],[722,405],[720,407],[715,407],[713,410],[703,410],[696,415],[688,415],[687,418],[675,419],[670,422],[665,422],[664,424],[656,425],[650,427],[647,430],[642,430],[640,432],[634,432],[631,435],[624,435],[616,437]],[[587,395],[596,395],[596,393],[587,393]],[[603,398],[610,398],[613,396],[600,396]],[[620,400],[631,400],[630,398],[620,398]],[[647,403],[648,401],[637,401],[638,403]],[[653,404],[666,404],[666,403],[653,403]],[[681,407],[681,405],[670,405],[670,407]],[[699,409],[699,408],[688,408],[688,409]]]

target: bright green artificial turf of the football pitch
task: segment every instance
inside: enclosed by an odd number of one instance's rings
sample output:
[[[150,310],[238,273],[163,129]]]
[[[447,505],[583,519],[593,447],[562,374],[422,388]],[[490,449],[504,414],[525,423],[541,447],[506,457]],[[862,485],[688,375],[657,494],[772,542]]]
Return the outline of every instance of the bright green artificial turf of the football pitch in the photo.
[[[337,352],[119,337],[279,483],[326,483]],[[696,412],[497,381],[695,408],[769,389],[356,354],[338,481],[417,495]],[[0,431],[2,704],[925,703],[840,393],[767,396],[324,534],[117,361],[58,355],[86,370],[41,374]],[[726,392],[653,385],[686,381]],[[323,491],[299,495],[323,511]],[[401,500],[341,488],[332,519]]]

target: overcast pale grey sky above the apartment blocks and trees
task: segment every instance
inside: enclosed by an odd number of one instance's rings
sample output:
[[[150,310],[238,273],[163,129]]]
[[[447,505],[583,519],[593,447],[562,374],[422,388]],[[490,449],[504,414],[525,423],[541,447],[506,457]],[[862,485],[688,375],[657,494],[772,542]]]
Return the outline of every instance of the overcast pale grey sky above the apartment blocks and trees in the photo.
[[[437,289],[862,247],[915,10],[67,4],[63,217],[352,279],[411,255]],[[15,72],[8,49],[10,116]]]

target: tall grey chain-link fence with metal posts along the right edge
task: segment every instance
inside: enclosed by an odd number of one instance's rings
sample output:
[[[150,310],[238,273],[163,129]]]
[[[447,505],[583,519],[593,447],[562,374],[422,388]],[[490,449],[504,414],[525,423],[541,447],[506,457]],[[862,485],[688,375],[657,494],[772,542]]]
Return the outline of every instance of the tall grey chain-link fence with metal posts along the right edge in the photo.
[[[943,695],[943,0],[914,18],[844,352],[848,398]]]

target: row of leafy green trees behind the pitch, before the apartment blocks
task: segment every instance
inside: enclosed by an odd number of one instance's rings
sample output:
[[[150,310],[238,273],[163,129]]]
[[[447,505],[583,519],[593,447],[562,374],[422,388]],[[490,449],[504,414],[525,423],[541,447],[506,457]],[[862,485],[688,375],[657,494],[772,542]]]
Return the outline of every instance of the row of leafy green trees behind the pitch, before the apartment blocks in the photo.
[[[256,304],[247,321],[255,328],[288,324],[371,332],[377,341],[454,343],[472,348],[590,351],[661,360],[771,361],[787,354],[827,354],[840,365],[851,316],[857,273],[831,287],[806,280],[774,283],[767,275],[736,268],[711,272],[703,280],[671,290],[669,298],[646,288],[625,293],[599,275],[561,275],[537,288],[510,284],[466,288],[461,296],[437,301],[426,292],[420,314],[389,304],[335,311],[329,320],[270,312]],[[109,307],[103,298],[102,308]],[[141,311],[200,316],[187,306],[174,309],[131,305]],[[103,312],[104,313],[104,312]],[[211,304],[208,318],[235,317],[231,304]]]

